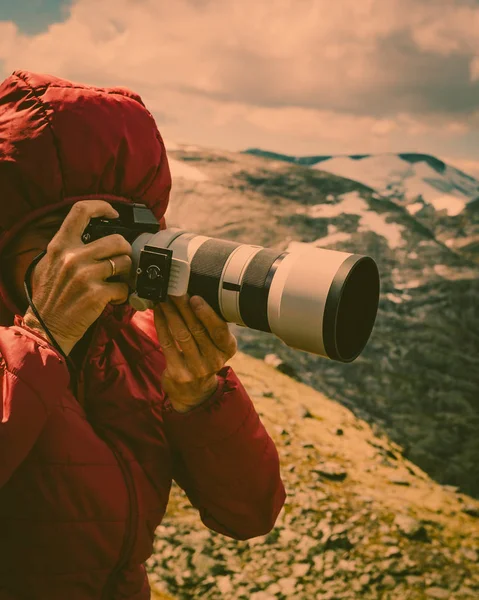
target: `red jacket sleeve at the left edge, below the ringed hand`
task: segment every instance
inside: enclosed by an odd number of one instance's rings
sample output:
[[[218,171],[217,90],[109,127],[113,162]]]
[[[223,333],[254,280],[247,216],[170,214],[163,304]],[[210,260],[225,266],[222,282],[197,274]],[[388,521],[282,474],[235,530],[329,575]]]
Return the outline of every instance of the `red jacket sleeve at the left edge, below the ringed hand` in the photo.
[[[28,456],[69,380],[63,358],[41,336],[0,327],[0,489]]]

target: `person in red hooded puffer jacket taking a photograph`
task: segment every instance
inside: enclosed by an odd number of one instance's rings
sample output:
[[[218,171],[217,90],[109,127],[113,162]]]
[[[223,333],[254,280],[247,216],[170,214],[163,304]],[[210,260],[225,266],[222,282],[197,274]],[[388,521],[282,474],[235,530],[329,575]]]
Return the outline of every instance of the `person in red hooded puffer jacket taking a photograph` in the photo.
[[[271,531],[284,504],[277,449],[224,364],[227,324],[187,295],[136,312],[109,281],[131,267],[129,243],[80,239],[116,202],[165,229],[170,189],[131,90],[21,70],[0,85],[0,600],[150,598],[173,480],[237,540]],[[31,299],[58,347],[23,287],[44,251]]]

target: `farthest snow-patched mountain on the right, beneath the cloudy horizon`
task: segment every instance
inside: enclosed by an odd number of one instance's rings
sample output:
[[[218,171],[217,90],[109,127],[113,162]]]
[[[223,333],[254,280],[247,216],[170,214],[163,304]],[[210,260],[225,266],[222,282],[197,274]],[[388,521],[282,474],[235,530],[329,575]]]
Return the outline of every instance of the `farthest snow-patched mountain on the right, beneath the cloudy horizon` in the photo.
[[[452,250],[479,262],[479,181],[429,154],[288,156],[259,149],[261,156],[352,179],[405,206]]]

